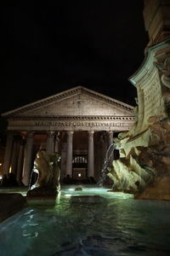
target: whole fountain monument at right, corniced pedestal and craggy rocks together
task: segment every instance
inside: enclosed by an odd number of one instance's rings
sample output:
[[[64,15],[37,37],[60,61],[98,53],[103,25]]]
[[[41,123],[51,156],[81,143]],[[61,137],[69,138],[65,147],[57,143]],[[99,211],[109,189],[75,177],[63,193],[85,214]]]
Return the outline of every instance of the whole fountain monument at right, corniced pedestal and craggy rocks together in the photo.
[[[121,158],[108,174],[113,189],[133,192],[136,198],[170,200],[170,86],[162,80],[169,79],[169,49],[170,40],[151,48],[130,79],[138,90],[138,119],[116,142],[122,146]]]

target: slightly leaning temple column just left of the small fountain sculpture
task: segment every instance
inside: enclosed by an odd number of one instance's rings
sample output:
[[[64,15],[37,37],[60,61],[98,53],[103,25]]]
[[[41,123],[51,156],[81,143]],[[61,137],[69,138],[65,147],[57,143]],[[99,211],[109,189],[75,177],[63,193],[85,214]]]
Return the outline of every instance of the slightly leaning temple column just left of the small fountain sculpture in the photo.
[[[22,182],[28,186],[30,183],[32,148],[33,148],[33,131],[29,131],[26,140],[24,168]]]

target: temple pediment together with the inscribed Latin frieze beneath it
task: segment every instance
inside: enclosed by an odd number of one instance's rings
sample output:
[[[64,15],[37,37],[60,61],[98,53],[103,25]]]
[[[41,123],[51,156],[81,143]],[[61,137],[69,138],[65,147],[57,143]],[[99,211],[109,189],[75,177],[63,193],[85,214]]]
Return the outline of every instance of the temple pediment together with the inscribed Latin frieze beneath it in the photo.
[[[132,106],[82,86],[3,116],[11,131],[128,131],[134,121]]]

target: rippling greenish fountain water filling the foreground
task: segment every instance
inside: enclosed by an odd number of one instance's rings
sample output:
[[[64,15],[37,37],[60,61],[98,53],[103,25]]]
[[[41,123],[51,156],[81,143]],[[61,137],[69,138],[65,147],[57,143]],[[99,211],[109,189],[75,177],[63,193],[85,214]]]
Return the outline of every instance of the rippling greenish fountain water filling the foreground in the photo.
[[[169,255],[169,212],[168,201],[65,188],[54,207],[28,207],[0,224],[0,255]]]

